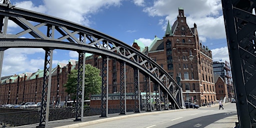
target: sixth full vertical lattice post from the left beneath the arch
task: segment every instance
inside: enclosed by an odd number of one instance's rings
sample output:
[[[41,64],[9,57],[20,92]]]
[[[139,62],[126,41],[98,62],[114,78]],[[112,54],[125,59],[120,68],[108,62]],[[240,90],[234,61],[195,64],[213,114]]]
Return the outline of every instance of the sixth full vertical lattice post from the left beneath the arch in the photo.
[[[146,111],[152,111],[151,108],[151,86],[150,77],[146,76]]]

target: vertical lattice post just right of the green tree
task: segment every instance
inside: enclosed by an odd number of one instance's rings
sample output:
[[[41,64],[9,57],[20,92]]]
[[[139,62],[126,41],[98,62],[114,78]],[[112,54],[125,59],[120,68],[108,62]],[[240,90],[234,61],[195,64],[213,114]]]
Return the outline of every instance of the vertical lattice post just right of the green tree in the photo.
[[[108,56],[102,56],[102,86],[101,86],[101,115],[107,117],[108,114]]]

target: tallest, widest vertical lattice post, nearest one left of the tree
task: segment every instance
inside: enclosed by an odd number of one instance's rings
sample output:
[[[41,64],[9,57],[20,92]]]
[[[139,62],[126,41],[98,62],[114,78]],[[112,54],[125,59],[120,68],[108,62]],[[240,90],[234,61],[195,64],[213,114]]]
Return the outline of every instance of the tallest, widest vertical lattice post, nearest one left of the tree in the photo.
[[[44,68],[43,68],[41,110],[40,110],[40,118],[39,118],[40,120],[39,120],[39,125],[36,127],[47,127],[48,118],[49,118],[51,67],[52,67],[53,50],[52,49],[44,49],[44,50],[45,50],[45,57],[44,57]],[[43,122],[44,124],[42,124]]]

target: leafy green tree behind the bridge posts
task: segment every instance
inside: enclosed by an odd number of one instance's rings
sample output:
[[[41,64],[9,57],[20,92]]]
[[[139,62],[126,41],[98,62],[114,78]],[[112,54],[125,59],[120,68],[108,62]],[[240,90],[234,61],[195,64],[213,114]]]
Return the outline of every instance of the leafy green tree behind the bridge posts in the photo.
[[[90,94],[99,94],[101,92],[101,76],[100,70],[90,64],[85,64],[84,75],[84,99],[89,99]],[[76,98],[77,87],[77,69],[72,69],[68,74],[68,79],[64,87],[65,91],[70,94],[72,99]]]

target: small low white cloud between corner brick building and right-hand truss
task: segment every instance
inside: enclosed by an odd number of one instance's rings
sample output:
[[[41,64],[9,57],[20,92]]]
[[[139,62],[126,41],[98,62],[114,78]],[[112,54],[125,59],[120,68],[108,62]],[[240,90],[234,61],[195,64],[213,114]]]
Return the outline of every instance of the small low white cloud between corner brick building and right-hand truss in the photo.
[[[219,61],[222,59],[222,62],[227,61],[229,62],[229,55],[228,55],[228,48],[227,46],[225,47],[220,47],[220,48],[215,48],[211,50],[212,54],[212,60],[213,61]],[[230,62],[229,62],[230,63]]]

